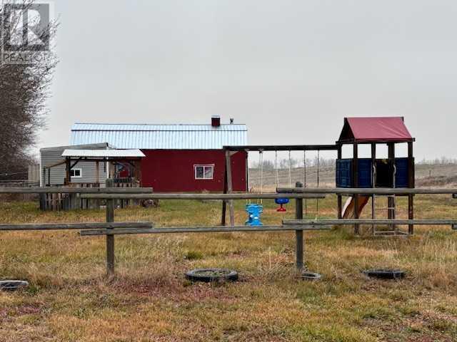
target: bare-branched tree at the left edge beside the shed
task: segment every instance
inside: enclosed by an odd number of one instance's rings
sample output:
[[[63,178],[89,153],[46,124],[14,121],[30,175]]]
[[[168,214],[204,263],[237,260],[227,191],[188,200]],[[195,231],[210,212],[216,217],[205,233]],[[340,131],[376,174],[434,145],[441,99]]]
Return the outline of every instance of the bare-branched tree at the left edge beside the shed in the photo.
[[[11,3],[9,3],[11,4]],[[34,1],[19,1],[22,11],[7,11],[7,4],[0,2],[2,42],[12,41],[14,34],[22,30],[23,11],[28,11]],[[29,19],[34,20],[34,19]],[[29,22],[29,25],[34,25]],[[25,53],[38,41],[55,36],[58,24],[50,21],[34,38],[28,38],[27,44],[16,49],[16,53]],[[19,34],[21,31],[19,31]],[[5,63],[0,61],[0,175],[25,172],[31,160],[31,147],[36,142],[36,135],[46,123],[52,76],[57,59],[50,46],[44,58],[33,58],[26,63]],[[35,56],[39,51],[32,52]],[[24,177],[24,175],[21,175]],[[16,177],[18,178],[18,177]]]

